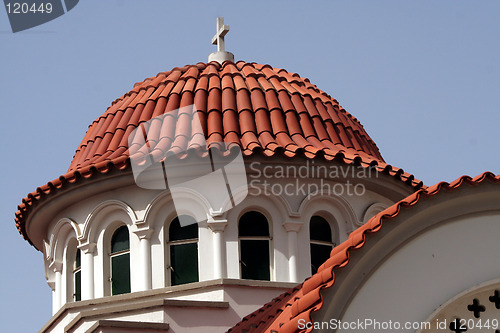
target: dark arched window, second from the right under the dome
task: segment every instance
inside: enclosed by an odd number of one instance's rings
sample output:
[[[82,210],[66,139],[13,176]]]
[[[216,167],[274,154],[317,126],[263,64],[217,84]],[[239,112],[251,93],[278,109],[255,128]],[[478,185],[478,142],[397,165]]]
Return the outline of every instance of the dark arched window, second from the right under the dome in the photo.
[[[243,214],[238,224],[242,279],[271,280],[269,223],[259,212]]]

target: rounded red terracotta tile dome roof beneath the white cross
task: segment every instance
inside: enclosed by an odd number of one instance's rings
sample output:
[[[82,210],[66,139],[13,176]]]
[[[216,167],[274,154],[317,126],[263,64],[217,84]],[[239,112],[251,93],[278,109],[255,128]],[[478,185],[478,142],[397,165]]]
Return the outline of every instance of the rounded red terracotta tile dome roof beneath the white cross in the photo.
[[[359,121],[308,79],[269,65],[214,61],[159,73],[115,100],[89,126],[68,172],[23,199],[16,212],[19,232],[29,241],[29,212],[55,190],[94,174],[128,169],[128,136],[139,124],[193,104],[209,147],[225,142],[241,147],[243,156],[337,159],[376,166],[416,189],[423,185],[386,164]],[[190,148],[183,135],[186,120],[180,112],[173,114],[171,135],[156,144],[163,156]]]

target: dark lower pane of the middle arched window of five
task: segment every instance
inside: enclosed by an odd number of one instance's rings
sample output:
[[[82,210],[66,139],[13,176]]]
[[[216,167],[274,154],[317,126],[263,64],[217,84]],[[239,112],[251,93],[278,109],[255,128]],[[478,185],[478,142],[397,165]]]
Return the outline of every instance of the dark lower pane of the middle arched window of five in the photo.
[[[198,243],[170,247],[172,285],[198,281]]]

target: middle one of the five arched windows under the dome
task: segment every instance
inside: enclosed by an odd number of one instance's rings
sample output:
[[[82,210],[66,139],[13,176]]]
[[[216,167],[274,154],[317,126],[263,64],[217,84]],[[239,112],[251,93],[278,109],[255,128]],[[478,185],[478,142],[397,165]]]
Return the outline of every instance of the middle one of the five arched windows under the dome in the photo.
[[[179,218],[184,226],[181,226]],[[176,217],[168,228],[170,283],[198,282],[198,223],[188,215]]]

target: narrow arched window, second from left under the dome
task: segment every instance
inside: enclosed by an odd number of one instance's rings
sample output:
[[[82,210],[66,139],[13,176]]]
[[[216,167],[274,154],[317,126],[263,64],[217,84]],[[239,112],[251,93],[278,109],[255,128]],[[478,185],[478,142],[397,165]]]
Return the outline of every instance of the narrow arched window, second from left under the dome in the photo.
[[[126,226],[116,229],[111,237],[111,295],[130,292],[130,240]]]

